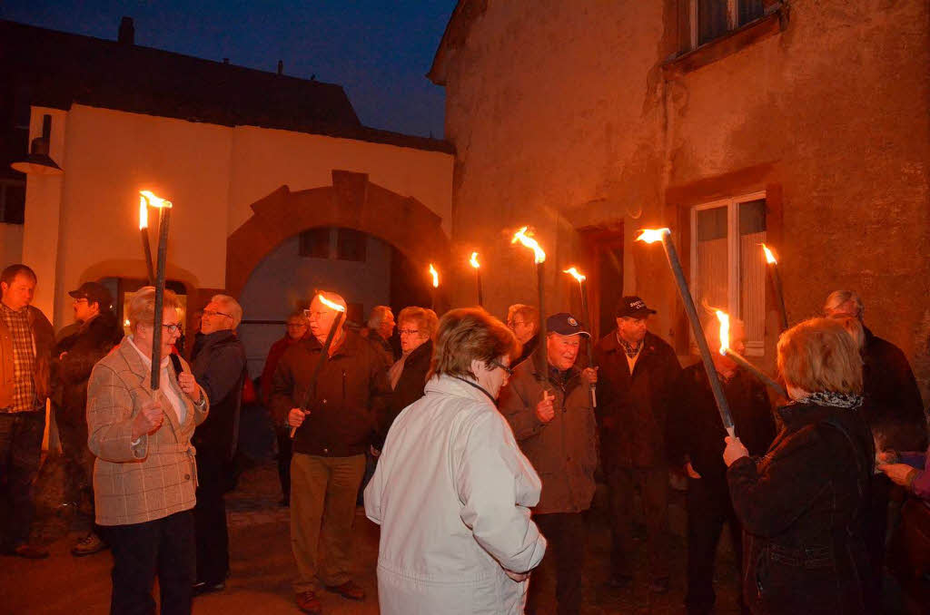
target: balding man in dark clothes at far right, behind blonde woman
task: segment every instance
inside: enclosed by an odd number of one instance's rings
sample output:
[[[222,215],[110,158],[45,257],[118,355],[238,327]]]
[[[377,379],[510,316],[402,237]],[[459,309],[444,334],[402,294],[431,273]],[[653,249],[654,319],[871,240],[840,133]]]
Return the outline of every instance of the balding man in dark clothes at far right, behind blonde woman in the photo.
[[[854,318],[862,324],[862,414],[879,451],[923,451],[926,447],[926,414],[917,380],[904,352],[872,334],[863,322],[865,306],[853,291],[834,291],[827,297],[824,315],[832,319]],[[866,544],[873,571],[875,594],[870,608],[879,608],[884,569],[885,533],[892,484],[883,474],[871,481],[866,517]]]

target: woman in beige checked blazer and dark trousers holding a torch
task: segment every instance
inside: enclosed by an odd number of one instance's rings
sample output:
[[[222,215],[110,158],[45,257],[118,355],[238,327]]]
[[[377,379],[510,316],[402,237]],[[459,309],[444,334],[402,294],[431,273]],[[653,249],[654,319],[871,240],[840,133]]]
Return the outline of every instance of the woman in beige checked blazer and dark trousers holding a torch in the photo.
[[[195,568],[193,505],[197,469],[193,429],[208,401],[191,368],[168,355],[180,336],[180,304],[165,292],[159,388],[150,384],[155,289],[142,288],[129,304],[131,334],[90,373],[87,445],[97,456],[97,524],[113,549],[110,612],[153,613],[155,575],[161,612],[190,613]]]

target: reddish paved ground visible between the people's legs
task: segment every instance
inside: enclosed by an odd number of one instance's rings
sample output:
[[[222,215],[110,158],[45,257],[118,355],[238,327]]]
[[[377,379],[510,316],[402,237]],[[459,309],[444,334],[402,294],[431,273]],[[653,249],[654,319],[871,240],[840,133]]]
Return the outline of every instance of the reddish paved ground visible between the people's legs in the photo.
[[[80,533],[68,529],[68,514],[62,513],[60,490],[47,487],[55,482],[54,464],[46,469],[43,481],[44,500],[40,539],[49,544],[52,555],[46,560],[27,561],[0,557],[0,613],[58,615],[106,613],[110,600],[109,552],[76,558],[69,549]],[[227,495],[229,511],[232,575],[227,589],[219,594],[195,599],[194,613],[296,613],[291,581],[294,563],[290,552],[288,510],[279,504],[281,493],[273,464],[259,465],[243,475],[238,488]],[[67,509],[65,509],[67,510]],[[603,515],[593,511],[590,517],[589,557],[586,566],[584,615],[606,613],[671,614],[682,613],[684,595],[684,543],[673,541],[671,592],[653,595],[646,590],[643,569],[637,569],[631,589],[609,591],[604,588],[608,559],[609,531]],[[74,528],[73,523],[70,526]],[[356,512],[355,551],[356,581],[365,588],[368,598],[356,603],[338,595],[321,596],[327,615],[374,614],[378,612],[375,563],[378,557],[379,529],[359,509]],[[725,543],[726,541],[722,541]],[[644,544],[639,543],[644,560]],[[718,559],[718,609],[722,615],[737,613],[736,575],[732,556],[722,553]],[[552,596],[553,583],[545,570],[534,575]],[[552,598],[551,598],[552,599]],[[545,612],[554,613],[554,605]]]

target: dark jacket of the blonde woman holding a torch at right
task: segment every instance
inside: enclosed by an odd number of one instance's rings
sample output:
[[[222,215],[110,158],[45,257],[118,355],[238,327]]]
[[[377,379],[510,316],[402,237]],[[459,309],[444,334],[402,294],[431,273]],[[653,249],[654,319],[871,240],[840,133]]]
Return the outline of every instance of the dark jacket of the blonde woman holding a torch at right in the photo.
[[[727,470],[743,525],[743,598],[753,613],[864,613],[863,515],[874,447],[857,410],[789,404],[762,458]]]

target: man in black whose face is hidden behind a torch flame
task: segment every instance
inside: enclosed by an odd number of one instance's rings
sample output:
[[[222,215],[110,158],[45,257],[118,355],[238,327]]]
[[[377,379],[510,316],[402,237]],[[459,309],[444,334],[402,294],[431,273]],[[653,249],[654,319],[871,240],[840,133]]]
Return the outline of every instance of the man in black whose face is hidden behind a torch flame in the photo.
[[[718,327],[705,326],[704,332],[739,439],[751,455],[763,455],[776,431],[765,387],[718,352]],[[737,353],[743,352],[744,332],[740,321],[731,321],[730,347]],[[688,477],[688,590],[684,605],[689,615],[707,615],[715,600],[714,560],[724,523],[733,540],[737,575],[742,562],[742,527],[726,484],[726,430],[704,365],[698,361],[686,368],[675,389],[677,400],[669,417],[669,453],[671,463],[683,467]]]

